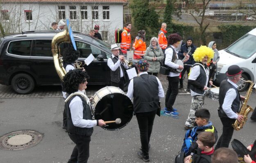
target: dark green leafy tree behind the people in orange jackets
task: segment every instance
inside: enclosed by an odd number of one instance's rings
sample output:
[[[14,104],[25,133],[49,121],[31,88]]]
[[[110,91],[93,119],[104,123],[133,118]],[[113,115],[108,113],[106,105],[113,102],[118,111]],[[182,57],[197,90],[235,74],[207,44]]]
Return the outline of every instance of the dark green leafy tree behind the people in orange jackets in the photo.
[[[146,40],[157,37],[160,23],[159,15],[155,11],[154,5],[149,0],[135,0],[131,6],[131,16],[133,21],[133,30],[144,29],[146,31]]]

